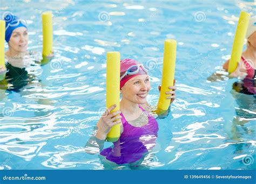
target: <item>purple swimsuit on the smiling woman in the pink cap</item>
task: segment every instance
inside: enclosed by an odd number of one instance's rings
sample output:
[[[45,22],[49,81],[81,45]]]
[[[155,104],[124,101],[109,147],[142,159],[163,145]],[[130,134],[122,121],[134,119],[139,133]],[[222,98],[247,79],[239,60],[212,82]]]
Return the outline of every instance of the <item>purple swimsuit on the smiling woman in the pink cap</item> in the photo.
[[[152,146],[152,144],[155,143],[158,132],[157,121],[140,105],[139,108],[147,115],[149,122],[142,127],[132,126],[121,113],[120,116],[122,116],[121,120],[124,128],[123,133],[118,141],[113,143],[113,146],[105,148],[100,152],[107,160],[115,162],[116,164],[135,162],[142,158],[143,154],[148,152],[146,145]],[[142,141],[143,138],[146,141]]]

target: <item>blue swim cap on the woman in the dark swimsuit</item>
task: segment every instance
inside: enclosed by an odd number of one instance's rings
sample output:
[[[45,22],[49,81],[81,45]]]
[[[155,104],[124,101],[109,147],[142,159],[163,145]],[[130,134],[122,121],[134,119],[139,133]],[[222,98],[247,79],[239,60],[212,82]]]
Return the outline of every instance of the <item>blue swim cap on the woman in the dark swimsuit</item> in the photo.
[[[26,22],[23,19],[19,19],[11,12],[6,12],[4,15],[5,21],[5,41],[8,42],[11,38],[11,33],[18,27],[26,27]]]

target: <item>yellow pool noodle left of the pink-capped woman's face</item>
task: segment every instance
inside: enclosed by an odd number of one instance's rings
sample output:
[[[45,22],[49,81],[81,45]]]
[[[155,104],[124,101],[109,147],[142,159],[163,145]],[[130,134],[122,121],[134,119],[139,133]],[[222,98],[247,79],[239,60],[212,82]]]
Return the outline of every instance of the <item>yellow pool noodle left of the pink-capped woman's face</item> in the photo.
[[[120,53],[107,52],[106,63],[106,108],[116,104],[117,107],[111,111],[114,112],[120,109]],[[116,124],[107,134],[107,141],[114,142],[119,137],[120,124]]]

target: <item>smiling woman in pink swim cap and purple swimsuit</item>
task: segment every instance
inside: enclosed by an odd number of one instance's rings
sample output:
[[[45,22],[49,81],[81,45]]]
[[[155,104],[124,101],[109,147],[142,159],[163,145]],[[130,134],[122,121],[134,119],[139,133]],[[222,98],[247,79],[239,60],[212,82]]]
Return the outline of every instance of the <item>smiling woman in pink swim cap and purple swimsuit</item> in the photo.
[[[176,88],[173,86],[169,89],[173,91],[166,91],[170,95],[166,98],[172,98],[173,102]],[[120,111],[109,113],[116,107],[112,105],[99,119],[96,136],[91,137],[86,144],[88,153],[92,153],[92,147],[99,147],[104,163],[110,167],[117,164],[134,168],[140,165],[145,155],[156,145],[158,134],[157,120],[147,103],[150,90],[149,75],[142,63],[133,59],[120,61]],[[107,133],[118,123],[121,124],[120,138],[112,147],[103,149]]]

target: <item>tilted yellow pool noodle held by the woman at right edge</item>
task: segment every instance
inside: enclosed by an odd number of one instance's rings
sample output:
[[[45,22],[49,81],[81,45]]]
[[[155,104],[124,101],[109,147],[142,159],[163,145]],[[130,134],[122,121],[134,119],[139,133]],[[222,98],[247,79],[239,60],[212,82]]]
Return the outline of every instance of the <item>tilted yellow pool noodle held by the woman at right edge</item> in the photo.
[[[234,42],[231,52],[231,59],[228,65],[228,73],[234,72],[237,69],[238,62],[241,60],[242,47],[250,20],[250,13],[242,11],[238,20],[237,31],[235,31]]]

